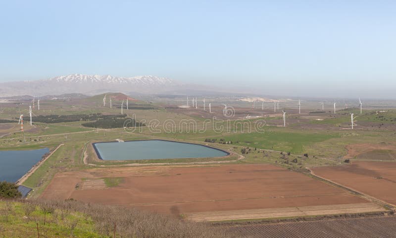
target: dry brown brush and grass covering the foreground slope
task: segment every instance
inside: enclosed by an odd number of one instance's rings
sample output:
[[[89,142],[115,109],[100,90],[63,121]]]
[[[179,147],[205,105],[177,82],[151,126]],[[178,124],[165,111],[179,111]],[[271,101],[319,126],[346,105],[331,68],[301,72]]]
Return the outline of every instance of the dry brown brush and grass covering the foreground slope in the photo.
[[[18,201],[16,201],[18,203]],[[23,203],[22,203],[23,202]],[[1,202],[0,202],[1,203]],[[54,200],[25,200],[20,201],[20,207],[28,208],[23,213],[29,217],[33,211],[51,213],[48,222],[56,223],[63,216],[69,214],[83,214],[95,224],[95,232],[103,237],[128,237],[128,238],[233,238],[240,237],[227,234],[224,229],[209,224],[185,221],[182,218],[175,219],[164,215],[158,215],[147,211],[125,209],[112,206],[86,204],[78,201],[54,201]],[[9,201],[6,202],[9,204]],[[17,205],[18,206],[18,205]],[[32,209],[34,208],[34,209]],[[53,214],[58,214],[53,218]],[[8,214],[8,213],[7,213]],[[2,214],[3,215],[3,214]],[[1,226],[7,227],[3,218]],[[73,220],[70,224],[70,237],[73,236],[75,227],[79,227],[79,220]],[[56,227],[56,226],[53,226]],[[17,232],[17,231],[15,231]]]

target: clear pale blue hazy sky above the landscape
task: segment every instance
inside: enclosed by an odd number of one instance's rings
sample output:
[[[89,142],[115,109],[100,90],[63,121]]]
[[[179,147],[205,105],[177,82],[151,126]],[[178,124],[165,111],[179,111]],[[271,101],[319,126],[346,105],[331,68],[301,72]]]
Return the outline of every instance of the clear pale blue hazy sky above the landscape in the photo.
[[[0,82],[156,75],[267,95],[396,89],[396,1],[0,2]]]

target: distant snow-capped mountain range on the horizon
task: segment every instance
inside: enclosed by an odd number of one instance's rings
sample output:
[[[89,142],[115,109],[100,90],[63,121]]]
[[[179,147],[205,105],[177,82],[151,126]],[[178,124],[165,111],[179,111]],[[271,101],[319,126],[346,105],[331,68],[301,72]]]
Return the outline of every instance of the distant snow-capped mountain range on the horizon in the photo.
[[[104,92],[134,94],[172,93],[193,86],[157,76],[116,77],[110,75],[70,74],[44,80],[0,83],[0,97],[19,95],[61,95],[80,93],[96,95]],[[204,87],[202,87],[204,88]]]

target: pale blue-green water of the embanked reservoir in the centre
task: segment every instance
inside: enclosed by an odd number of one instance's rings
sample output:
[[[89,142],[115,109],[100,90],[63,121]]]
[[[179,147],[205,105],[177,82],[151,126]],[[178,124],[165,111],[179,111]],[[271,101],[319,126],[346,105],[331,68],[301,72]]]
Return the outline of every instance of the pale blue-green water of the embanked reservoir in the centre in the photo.
[[[94,148],[102,160],[208,158],[229,155],[226,151],[209,146],[167,140],[99,142],[94,143]]]

